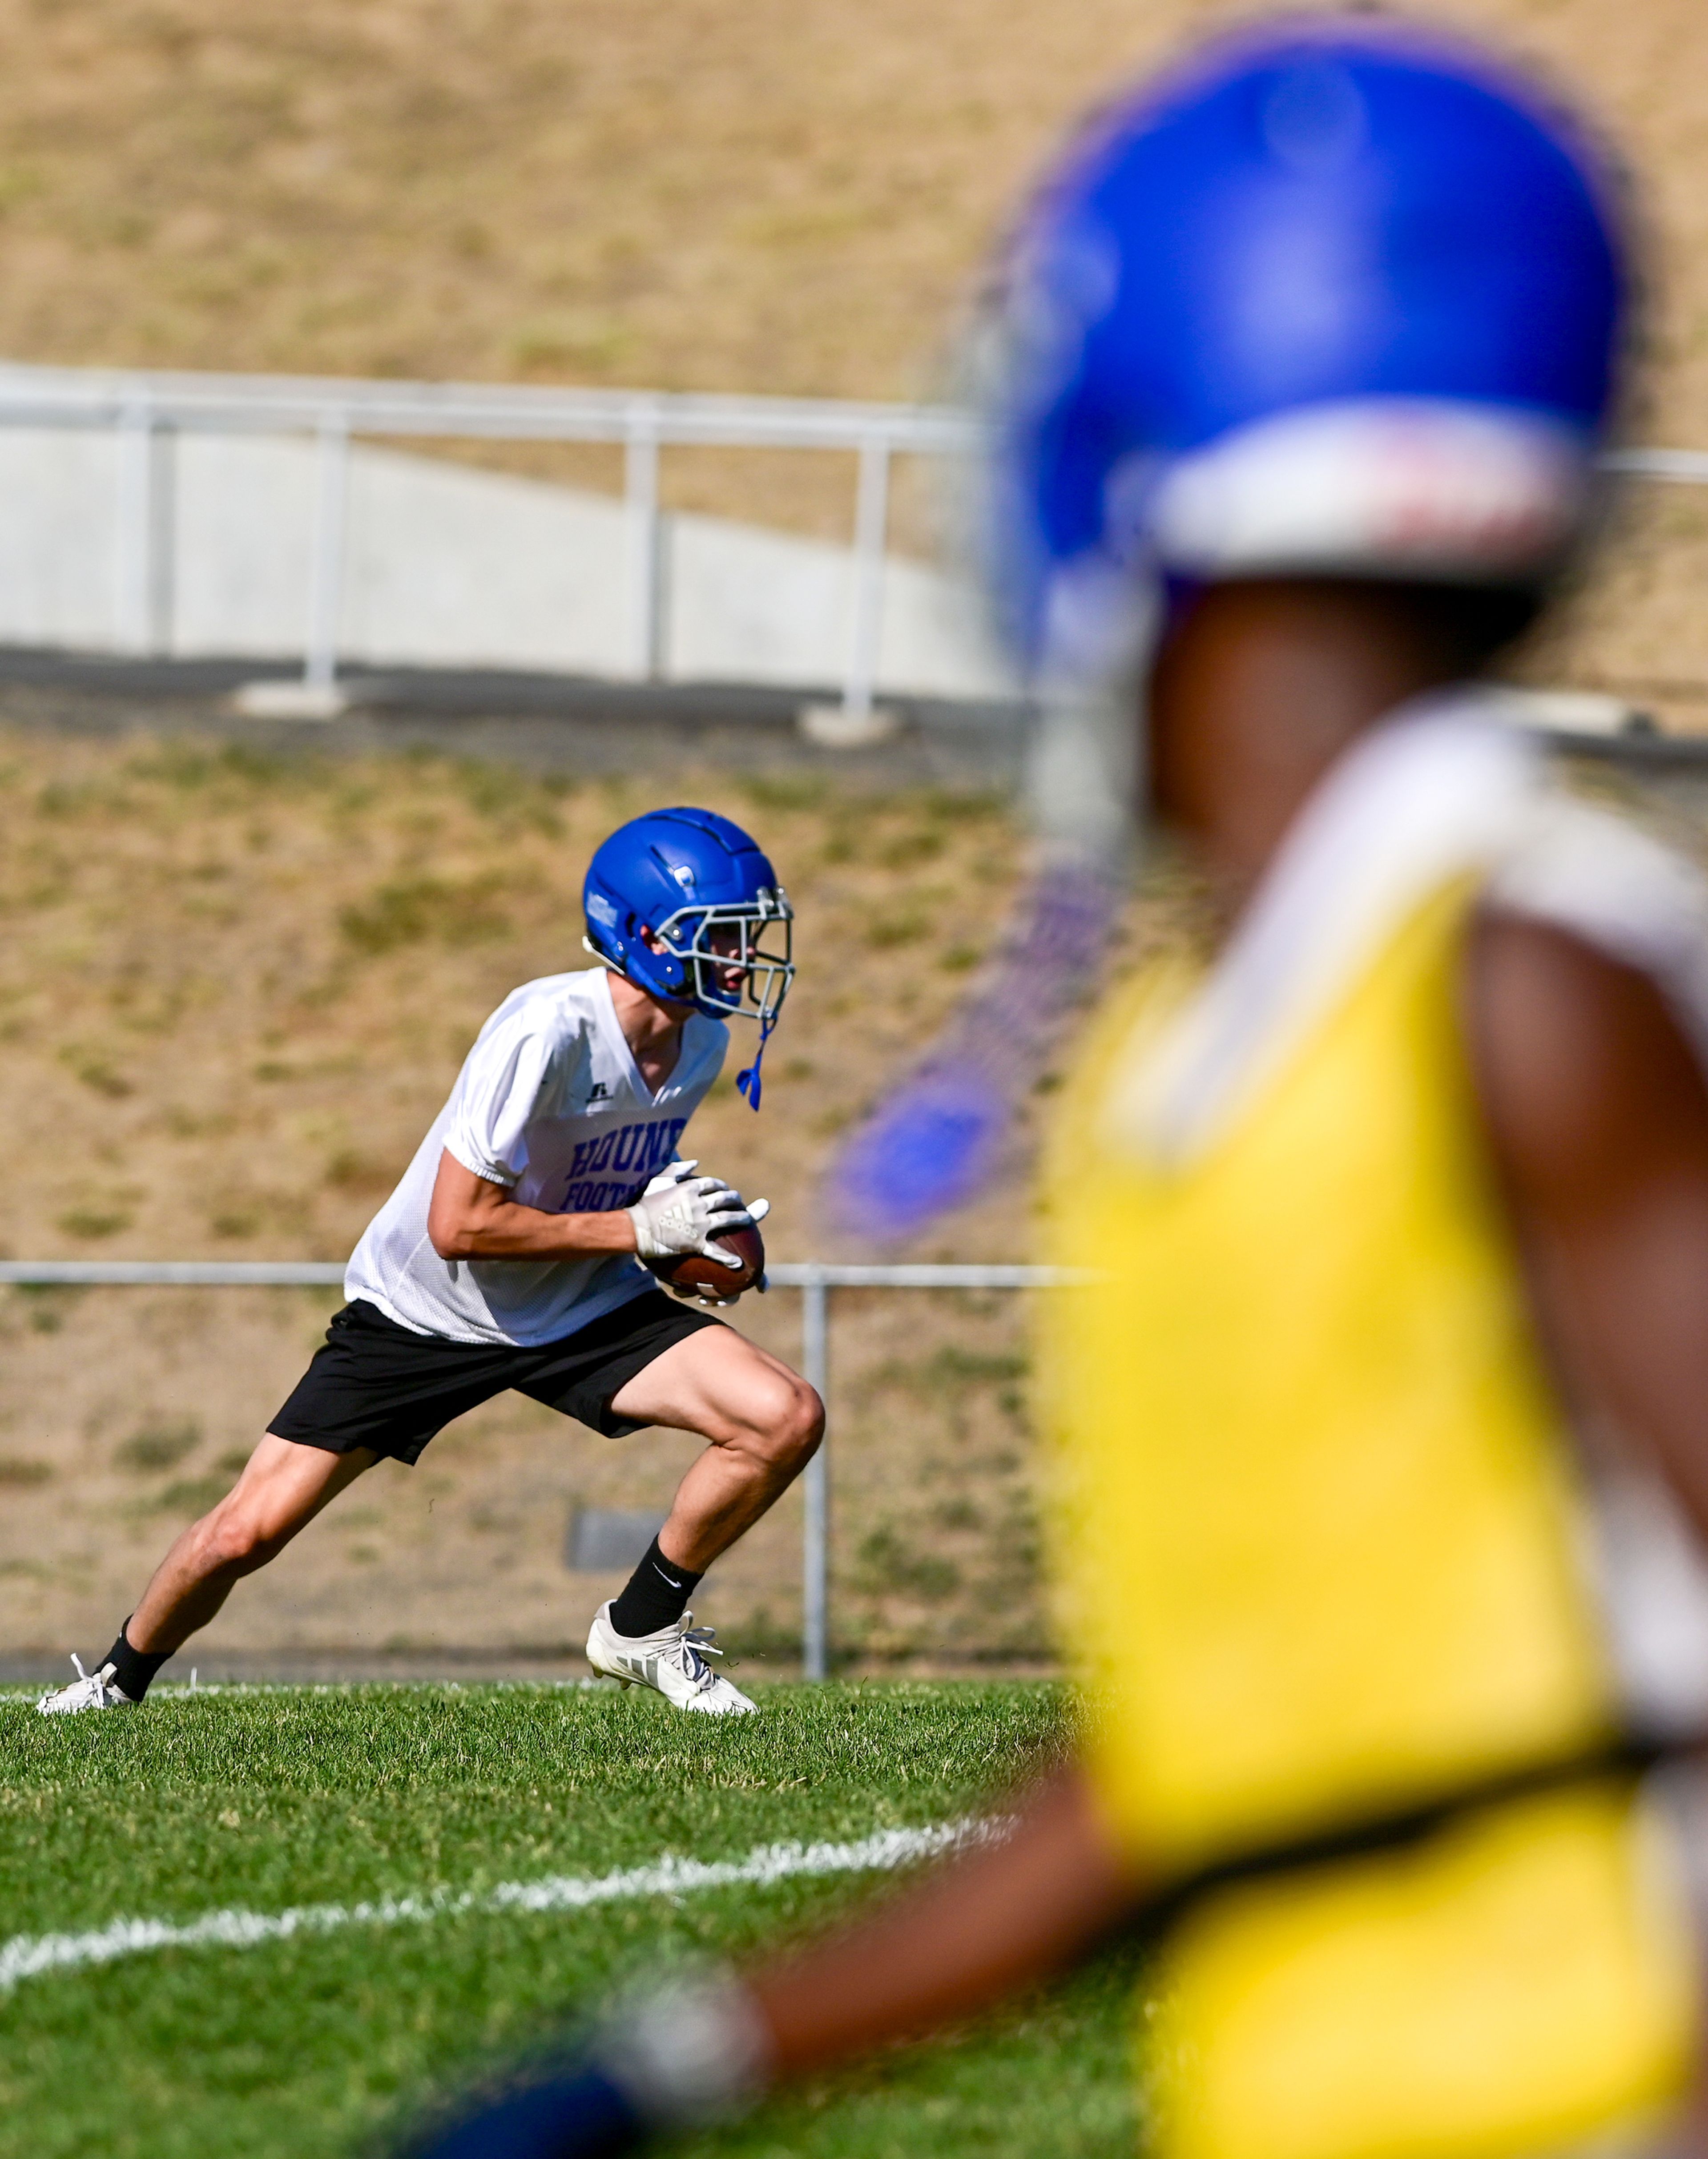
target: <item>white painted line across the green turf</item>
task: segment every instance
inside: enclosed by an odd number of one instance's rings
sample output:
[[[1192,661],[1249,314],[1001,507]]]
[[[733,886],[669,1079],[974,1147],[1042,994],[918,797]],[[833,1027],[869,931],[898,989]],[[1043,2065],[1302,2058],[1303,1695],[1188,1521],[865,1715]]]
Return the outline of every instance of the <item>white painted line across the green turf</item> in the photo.
[[[583,1911],[648,1896],[687,1896],[691,1889],[764,1887],[799,1874],[868,1874],[911,1865],[963,1844],[1000,1835],[1000,1822],[941,1822],[935,1829],[883,1829],[859,1844],[760,1844],[743,1859],[678,1859],[665,1852],[643,1868],[618,1874],[546,1874],[536,1883],[499,1883],[497,1889],[376,1898],[371,1904],[298,1904],[292,1911],[209,1911],[201,1919],[112,1919],[84,1934],[13,1934],[0,1943],[0,1993],[43,1971],[110,1965],[145,1950],[253,1950],[294,1934],[337,1934],[345,1926],[399,1926],[406,1919],[449,1919],[460,1913]]]

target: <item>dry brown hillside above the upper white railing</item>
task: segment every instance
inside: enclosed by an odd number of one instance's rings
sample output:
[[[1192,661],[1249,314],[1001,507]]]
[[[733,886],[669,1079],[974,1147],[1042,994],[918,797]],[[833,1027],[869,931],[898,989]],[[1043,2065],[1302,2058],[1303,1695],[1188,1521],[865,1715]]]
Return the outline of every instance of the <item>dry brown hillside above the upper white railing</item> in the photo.
[[[931,389],[1024,175],[1220,0],[0,0],[0,352]],[[1708,9],[1451,0],[1652,203],[1652,425],[1708,440]],[[844,490],[767,484],[836,525]],[[678,469],[751,507],[754,479]]]

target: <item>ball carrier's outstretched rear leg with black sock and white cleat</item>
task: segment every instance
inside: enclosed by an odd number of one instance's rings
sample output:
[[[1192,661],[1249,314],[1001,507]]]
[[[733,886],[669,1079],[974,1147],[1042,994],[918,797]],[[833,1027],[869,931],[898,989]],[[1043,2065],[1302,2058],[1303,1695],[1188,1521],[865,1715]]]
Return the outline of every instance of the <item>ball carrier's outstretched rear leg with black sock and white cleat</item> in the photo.
[[[309,1522],[380,1457],[369,1449],[345,1455],[302,1447],[268,1434],[242,1477],[209,1513],[175,1542],[123,1626],[123,1643],[143,1658],[166,1658],[218,1613],[231,1589],[255,1574],[307,1529]],[[78,1667],[82,1673],[82,1665]],[[147,1678],[153,1673],[147,1671]],[[147,1684],[147,1682],[145,1682]],[[43,1697],[52,1712],[117,1708],[127,1695],[114,1684],[112,1665]]]

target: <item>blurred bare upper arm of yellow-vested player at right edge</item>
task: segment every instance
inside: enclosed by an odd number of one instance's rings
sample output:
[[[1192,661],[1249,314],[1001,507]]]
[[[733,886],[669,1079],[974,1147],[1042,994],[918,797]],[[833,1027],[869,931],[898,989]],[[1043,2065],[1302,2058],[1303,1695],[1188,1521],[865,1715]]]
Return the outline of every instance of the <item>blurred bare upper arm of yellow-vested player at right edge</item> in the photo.
[[[1470,1045],[1568,1395],[1708,1537],[1708,1086],[1654,982],[1520,915],[1477,926]]]

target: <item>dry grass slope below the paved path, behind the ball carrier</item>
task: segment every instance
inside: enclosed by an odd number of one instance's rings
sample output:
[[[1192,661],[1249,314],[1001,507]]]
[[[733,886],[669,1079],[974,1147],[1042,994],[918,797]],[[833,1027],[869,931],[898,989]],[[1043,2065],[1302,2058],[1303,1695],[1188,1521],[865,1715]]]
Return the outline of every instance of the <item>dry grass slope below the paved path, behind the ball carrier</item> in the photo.
[[[268,760],[216,741],[0,734],[0,1118],[9,1257],[343,1259],[486,1013],[585,965],[587,855],[656,779],[536,779],[438,756]],[[775,1213],[777,1259],[833,1254],[836,1136],[976,969],[1021,848],[993,801],[853,797],[680,773],[749,825],[799,907],[799,985],[764,1110],[734,1069],[691,1146]],[[1147,935],[1172,900],[1147,902]],[[736,1036],[738,1051],[747,1047]],[[922,1257],[1030,1250],[1024,1192]],[[849,1250],[840,1246],[840,1250]],[[0,1291],[0,1645],[101,1649],[173,1531],[231,1483],[335,1291]],[[736,1323],[799,1354],[799,1298]],[[838,1628],[868,1658],[1043,1654],[1011,1295],[838,1293]],[[209,1652],[568,1654],[618,1580],[568,1576],[574,1505],[669,1501],[697,1442],[596,1438],[503,1397],[315,1524]],[[799,1501],[715,1572],[747,1652],[799,1626]]]

